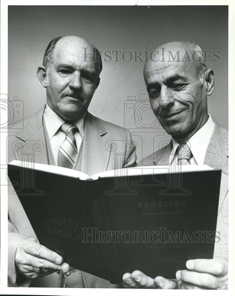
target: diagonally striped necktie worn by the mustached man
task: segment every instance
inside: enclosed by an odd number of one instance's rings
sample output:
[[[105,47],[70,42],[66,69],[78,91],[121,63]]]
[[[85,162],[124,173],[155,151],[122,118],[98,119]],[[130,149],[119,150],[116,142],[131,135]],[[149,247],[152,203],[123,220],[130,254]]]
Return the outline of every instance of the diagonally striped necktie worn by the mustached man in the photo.
[[[66,135],[64,141],[59,147],[58,166],[72,169],[77,158],[77,145],[74,138],[77,126],[73,123],[65,122],[60,128],[66,133]]]

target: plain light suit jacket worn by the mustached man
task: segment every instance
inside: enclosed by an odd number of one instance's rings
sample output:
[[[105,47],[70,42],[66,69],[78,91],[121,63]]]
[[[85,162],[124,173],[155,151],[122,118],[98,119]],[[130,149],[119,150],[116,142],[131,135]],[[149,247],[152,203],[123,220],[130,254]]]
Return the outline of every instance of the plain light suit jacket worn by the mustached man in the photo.
[[[43,112],[45,106],[35,115],[26,118],[24,122],[15,123],[11,131],[15,133],[8,136],[8,162],[27,158],[35,163],[54,164],[47,132],[43,126]],[[18,127],[22,126],[22,129]],[[113,144],[112,144],[113,143]],[[118,157],[118,161],[117,161]],[[89,112],[85,119],[84,137],[81,143],[76,170],[89,176],[105,170],[115,169],[116,163],[120,167],[132,165],[136,162],[135,147],[128,130],[103,121]],[[9,286],[16,286],[17,273],[14,264],[14,254],[20,242],[35,233],[27,219],[17,195],[12,194],[14,189],[8,186],[8,213],[10,218],[8,236],[8,279]],[[29,281],[22,282],[28,285]],[[61,274],[51,274],[32,280],[30,287],[60,287]],[[116,288],[117,285],[109,281],[92,276],[85,272],[75,270],[68,276],[69,287],[86,288]]]

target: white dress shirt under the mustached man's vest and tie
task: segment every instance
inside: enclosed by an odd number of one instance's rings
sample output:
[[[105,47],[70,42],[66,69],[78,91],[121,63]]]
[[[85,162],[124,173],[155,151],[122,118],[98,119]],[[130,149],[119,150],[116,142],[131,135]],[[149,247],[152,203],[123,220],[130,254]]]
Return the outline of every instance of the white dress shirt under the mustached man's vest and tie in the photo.
[[[85,122],[86,112],[82,115],[81,118],[74,120],[73,123],[77,126],[78,130],[74,133],[74,138],[77,144],[77,151],[79,151],[83,132],[84,132],[84,122]],[[65,122],[58,114],[56,114],[49,106],[46,104],[46,108],[43,114],[46,129],[48,132],[51,150],[53,152],[55,165],[58,164],[58,152],[60,144],[65,139],[65,132],[60,129],[61,125]]]

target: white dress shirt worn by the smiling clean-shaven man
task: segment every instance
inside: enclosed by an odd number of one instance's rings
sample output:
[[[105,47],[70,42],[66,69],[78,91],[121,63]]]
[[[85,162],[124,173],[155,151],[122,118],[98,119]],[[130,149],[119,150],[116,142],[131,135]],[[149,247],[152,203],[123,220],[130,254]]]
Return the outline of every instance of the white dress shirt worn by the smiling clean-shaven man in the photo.
[[[208,121],[202,126],[188,141],[187,144],[192,152],[192,157],[190,158],[191,165],[203,165],[206,150],[210,142],[210,138],[213,134],[215,124],[209,115]],[[172,149],[169,157],[169,165],[174,162],[177,163],[178,156],[175,156],[175,152],[179,143],[172,138]]]

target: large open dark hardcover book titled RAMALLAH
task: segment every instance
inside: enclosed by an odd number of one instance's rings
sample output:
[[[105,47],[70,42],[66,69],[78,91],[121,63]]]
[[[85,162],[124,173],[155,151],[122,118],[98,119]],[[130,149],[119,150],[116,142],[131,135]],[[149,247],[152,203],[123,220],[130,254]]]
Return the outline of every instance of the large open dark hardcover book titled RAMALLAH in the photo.
[[[111,283],[134,270],[175,278],[187,260],[213,258],[221,170],[140,166],[88,176],[14,160],[8,176],[40,244]]]

